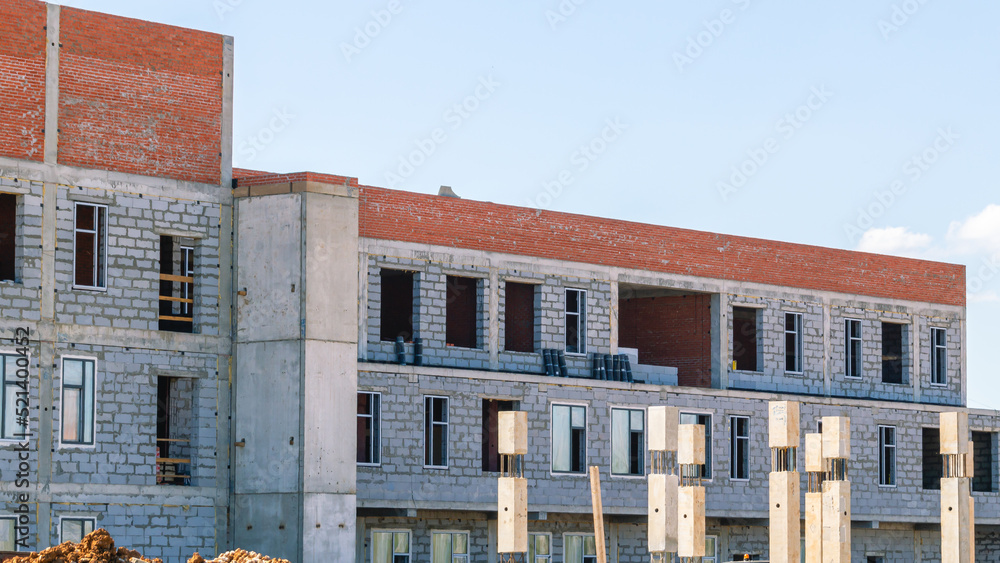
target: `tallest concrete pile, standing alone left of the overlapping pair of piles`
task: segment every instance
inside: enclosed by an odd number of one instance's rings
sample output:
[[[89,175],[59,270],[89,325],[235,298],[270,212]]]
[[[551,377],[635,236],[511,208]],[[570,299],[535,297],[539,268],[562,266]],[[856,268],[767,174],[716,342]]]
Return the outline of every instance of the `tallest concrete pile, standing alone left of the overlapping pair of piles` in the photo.
[[[771,448],[770,560],[799,563],[799,472],[795,462],[799,445],[799,403],[768,404],[768,445]]]

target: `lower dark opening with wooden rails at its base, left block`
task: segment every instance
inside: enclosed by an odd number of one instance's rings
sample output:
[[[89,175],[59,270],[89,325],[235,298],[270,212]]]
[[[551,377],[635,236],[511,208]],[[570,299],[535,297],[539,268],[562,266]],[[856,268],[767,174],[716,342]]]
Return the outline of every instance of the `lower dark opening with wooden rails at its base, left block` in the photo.
[[[156,482],[191,484],[194,380],[156,378]]]

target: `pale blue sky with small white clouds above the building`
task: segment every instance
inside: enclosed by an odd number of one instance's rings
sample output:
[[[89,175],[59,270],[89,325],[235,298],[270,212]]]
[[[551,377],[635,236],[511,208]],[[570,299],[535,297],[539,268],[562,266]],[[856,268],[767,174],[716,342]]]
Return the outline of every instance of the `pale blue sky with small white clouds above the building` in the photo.
[[[62,3],[234,36],[237,166],[967,264],[1000,408],[1000,4]]]

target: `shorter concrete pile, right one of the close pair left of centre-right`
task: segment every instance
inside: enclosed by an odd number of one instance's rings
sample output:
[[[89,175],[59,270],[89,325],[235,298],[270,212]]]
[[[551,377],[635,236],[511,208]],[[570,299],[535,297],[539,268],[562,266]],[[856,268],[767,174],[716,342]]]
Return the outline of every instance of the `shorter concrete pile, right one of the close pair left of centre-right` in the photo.
[[[683,563],[705,556],[705,487],[701,467],[705,464],[705,427],[678,425],[677,463],[681,486],[677,489],[677,556]]]

